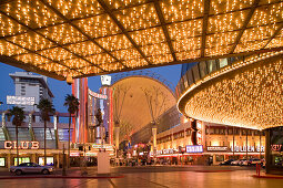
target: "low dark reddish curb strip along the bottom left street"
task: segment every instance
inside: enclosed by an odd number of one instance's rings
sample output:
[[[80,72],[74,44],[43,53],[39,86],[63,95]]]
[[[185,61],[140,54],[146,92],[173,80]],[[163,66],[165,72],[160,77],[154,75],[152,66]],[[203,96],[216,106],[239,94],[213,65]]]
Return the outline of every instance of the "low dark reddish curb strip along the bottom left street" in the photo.
[[[114,179],[124,178],[121,176],[7,176],[1,179]]]

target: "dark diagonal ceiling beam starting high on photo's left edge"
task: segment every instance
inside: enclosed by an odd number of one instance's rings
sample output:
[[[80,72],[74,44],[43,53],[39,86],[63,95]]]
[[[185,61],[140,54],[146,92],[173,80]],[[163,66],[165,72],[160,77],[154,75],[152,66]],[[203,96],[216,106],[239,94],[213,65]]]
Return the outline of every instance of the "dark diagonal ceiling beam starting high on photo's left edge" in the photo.
[[[91,63],[89,60],[82,58],[81,55],[79,55],[79,54],[77,54],[77,53],[74,53],[74,52],[72,52],[72,51],[69,50],[68,48],[62,46],[61,44],[59,44],[58,42],[53,41],[52,39],[47,38],[44,34],[42,34],[42,33],[40,33],[40,32],[38,32],[38,31],[34,31],[33,29],[31,29],[30,27],[26,25],[24,23],[21,23],[20,21],[18,21],[18,20],[14,19],[13,17],[8,15],[6,12],[2,12],[2,11],[0,10],[0,13],[3,14],[3,15],[6,15],[6,17],[8,17],[9,19],[16,21],[16,22],[19,23],[20,25],[22,25],[22,27],[24,27],[26,29],[28,29],[29,31],[34,32],[34,33],[37,33],[38,35],[40,35],[40,36],[47,39],[48,41],[50,41],[51,43],[53,43],[55,46],[59,46],[59,48],[61,48],[61,49],[64,49],[64,50],[68,51],[69,53],[73,54],[74,56],[77,56],[77,58],[79,58],[79,59],[81,59],[81,60],[87,61],[88,63],[90,63],[90,64],[97,66],[97,67],[100,69],[102,72],[104,72],[104,70],[102,70],[100,66],[98,66],[98,65]],[[34,53],[34,52],[33,52],[33,53]],[[43,56],[43,55],[41,55],[41,56]],[[46,58],[46,56],[43,56],[43,58]],[[47,59],[47,58],[46,58],[46,59]],[[53,62],[55,62],[55,61],[53,61]],[[61,64],[61,65],[63,65],[63,64]]]

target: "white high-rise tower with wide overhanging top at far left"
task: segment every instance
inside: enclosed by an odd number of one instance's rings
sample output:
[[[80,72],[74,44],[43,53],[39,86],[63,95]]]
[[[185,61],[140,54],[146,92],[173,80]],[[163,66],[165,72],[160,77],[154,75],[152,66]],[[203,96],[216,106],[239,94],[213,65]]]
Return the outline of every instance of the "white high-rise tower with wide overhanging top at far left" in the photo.
[[[54,97],[48,86],[47,76],[34,75],[30,72],[16,72],[9,75],[12,77],[14,83],[16,96],[34,97],[36,104],[39,104],[41,98],[52,101],[52,97]],[[26,112],[39,112],[37,105],[19,105],[19,107],[23,107],[23,111]]]

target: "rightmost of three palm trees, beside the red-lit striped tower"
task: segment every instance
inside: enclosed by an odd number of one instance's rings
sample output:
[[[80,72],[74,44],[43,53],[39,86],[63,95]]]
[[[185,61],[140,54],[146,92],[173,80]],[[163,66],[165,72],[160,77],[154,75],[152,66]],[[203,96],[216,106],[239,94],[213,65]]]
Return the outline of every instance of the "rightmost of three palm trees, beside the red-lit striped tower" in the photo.
[[[68,107],[69,112],[69,139],[68,139],[68,167],[70,167],[70,127],[71,127],[71,116],[72,114],[77,114],[79,111],[80,102],[74,95],[65,95],[64,97],[64,106]]]

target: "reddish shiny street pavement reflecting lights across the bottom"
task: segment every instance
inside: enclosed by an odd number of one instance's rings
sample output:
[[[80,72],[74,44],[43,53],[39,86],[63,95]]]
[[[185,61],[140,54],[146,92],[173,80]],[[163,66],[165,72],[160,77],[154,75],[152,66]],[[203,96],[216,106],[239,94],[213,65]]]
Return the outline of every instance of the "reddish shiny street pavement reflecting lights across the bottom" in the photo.
[[[257,179],[252,177],[254,168],[246,167],[219,167],[219,166],[158,166],[158,167],[114,167],[112,175],[123,175],[122,178],[103,179],[61,179],[61,178],[36,178],[36,179],[1,179],[0,187],[9,188],[62,188],[62,187],[192,187],[192,188],[216,188],[216,187],[282,187],[283,179]],[[59,176],[60,171],[55,175]],[[6,171],[1,177],[10,177]],[[68,176],[80,175],[79,169],[72,169]],[[34,175],[24,175],[31,177]],[[38,176],[38,175],[37,175]],[[97,176],[95,168],[88,168],[88,176]],[[14,179],[16,178],[16,179]]]

